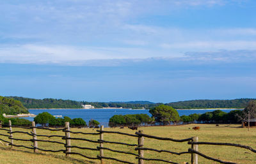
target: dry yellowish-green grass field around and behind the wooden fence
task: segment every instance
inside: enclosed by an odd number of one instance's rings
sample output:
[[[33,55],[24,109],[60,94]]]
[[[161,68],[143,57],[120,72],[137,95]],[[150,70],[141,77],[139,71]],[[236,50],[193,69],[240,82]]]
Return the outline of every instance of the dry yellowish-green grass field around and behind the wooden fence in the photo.
[[[141,127],[140,130],[143,130],[143,133],[148,135],[156,135],[159,137],[170,137],[175,139],[189,138],[189,137],[198,137],[199,141],[204,142],[228,142],[234,144],[242,144],[248,145],[256,149],[256,128],[251,128],[248,131],[246,128],[239,128],[240,125],[228,125],[228,124],[220,124],[220,126],[215,126],[214,124],[200,124],[200,131],[195,131],[189,128],[193,126],[198,126],[195,124],[189,124],[184,126],[162,126],[162,127]],[[13,128],[15,130],[22,130],[20,128]],[[72,131],[83,131],[83,132],[95,132],[90,128],[77,129],[72,128]],[[119,129],[119,128],[105,128],[104,130],[109,131],[121,131],[124,133],[134,134],[135,131],[129,130],[128,128]],[[30,130],[27,130],[30,131]],[[6,131],[0,131],[0,133],[6,134]],[[36,130],[37,134],[44,135],[65,135],[62,131],[47,131],[47,130]],[[71,134],[71,137],[78,138],[88,138],[91,140],[98,140],[99,135],[81,135],[81,134]],[[9,140],[6,137],[0,137],[5,140]],[[29,139],[31,136],[20,133],[13,133],[13,138],[26,138]],[[38,139],[48,140],[45,137],[38,137]],[[49,140],[56,140],[60,142],[65,142],[65,140],[61,140],[61,138],[52,137]],[[137,144],[136,137],[127,137],[125,135],[117,135],[104,133],[104,140],[115,141],[115,142],[125,142],[129,144]],[[22,144],[30,146],[32,142],[20,142],[14,140],[14,144]],[[72,140],[72,145],[78,145],[82,147],[92,147],[96,148],[99,144],[94,144],[86,141],[78,141]],[[10,147],[10,146],[9,146]],[[52,144],[47,142],[38,142],[38,147],[42,149],[64,149],[63,145],[60,144]],[[138,153],[134,151],[134,147],[130,147],[127,145],[116,145],[116,144],[104,144],[104,147],[109,147],[111,149],[116,149],[120,151],[127,151],[131,153]],[[178,143],[178,142],[170,142],[170,141],[160,141],[153,138],[145,138],[144,147],[150,147],[154,149],[164,149],[175,152],[188,151],[188,148],[191,145],[188,145],[187,142]],[[0,161],[1,163],[100,163],[99,160],[88,160],[78,155],[71,154],[71,158],[65,158],[65,154],[63,153],[49,153],[42,152],[34,154],[33,150],[22,148],[22,147],[14,147],[12,150],[10,148],[1,145],[0,147]],[[216,146],[216,145],[199,145],[198,150],[201,153],[206,154],[207,156],[211,156],[213,158],[218,158],[220,160],[225,161],[233,161],[236,163],[246,163],[253,164],[256,163],[256,154],[252,151],[242,149],[239,147],[230,147],[230,146]],[[76,148],[72,148],[72,152],[82,153],[86,156],[96,157],[99,154],[99,151],[88,151],[88,150],[80,150]],[[177,156],[175,154],[169,153],[156,153],[153,151],[144,151],[145,158],[161,158],[163,160],[171,160],[177,163],[190,163],[190,154],[182,154]],[[111,151],[104,150],[104,156],[118,158],[120,160],[131,161],[137,163],[138,160],[135,159],[134,156],[129,154],[120,154],[113,153]],[[106,163],[118,163],[116,161],[106,160]],[[145,161],[145,163],[163,163],[156,161]],[[207,160],[202,157],[198,157],[198,163],[217,163],[214,161]]]

